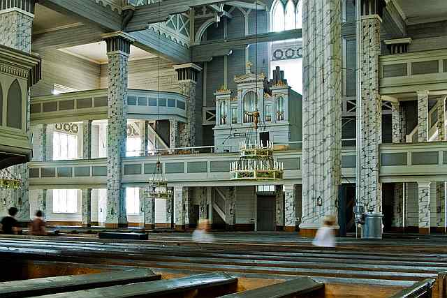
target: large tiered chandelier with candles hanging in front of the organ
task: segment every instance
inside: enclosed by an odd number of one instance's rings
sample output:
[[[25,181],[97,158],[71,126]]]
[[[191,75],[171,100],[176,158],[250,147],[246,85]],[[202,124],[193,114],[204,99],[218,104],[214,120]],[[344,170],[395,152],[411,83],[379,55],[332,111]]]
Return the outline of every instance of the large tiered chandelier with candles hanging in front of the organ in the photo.
[[[273,143],[266,144],[258,140],[259,112],[247,113],[253,117],[254,135],[256,142],[251,142],[250,133],[248,140],[239,144],[239,160],[230,163],[231,180],[279,180],[283,179],[283,163],[273,159]]]

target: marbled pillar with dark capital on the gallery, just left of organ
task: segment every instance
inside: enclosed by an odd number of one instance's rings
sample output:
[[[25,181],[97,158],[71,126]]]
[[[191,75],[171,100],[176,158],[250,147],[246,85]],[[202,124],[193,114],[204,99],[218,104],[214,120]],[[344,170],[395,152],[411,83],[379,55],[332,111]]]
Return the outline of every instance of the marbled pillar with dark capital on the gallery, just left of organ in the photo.
[[[198,73],[202,71],[196,64],[175,65],[180,94],[186,96],[186,123],[181,124],[183,133],[179,135],[180,147],[193,147],[196,145],[196,87]]]

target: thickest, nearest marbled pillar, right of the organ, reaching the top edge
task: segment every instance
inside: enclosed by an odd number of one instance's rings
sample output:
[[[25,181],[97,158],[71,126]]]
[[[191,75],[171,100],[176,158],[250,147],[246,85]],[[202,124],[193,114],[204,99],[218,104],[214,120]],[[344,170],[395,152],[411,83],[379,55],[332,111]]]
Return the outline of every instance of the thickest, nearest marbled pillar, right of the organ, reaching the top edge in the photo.
[[[337,214],[341,183],[341,2],[303,2],[303,234],[314,234],[323,216]],[[287,208],[287,206],[286,206]],[[295,216],[286,218],[286,228]]]

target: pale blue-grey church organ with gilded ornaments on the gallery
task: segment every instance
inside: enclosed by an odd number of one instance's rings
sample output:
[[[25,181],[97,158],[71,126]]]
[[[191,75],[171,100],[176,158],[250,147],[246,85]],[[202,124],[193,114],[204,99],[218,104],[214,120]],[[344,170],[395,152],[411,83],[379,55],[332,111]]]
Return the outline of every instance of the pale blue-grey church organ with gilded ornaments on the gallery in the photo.
[[[247,64],[244,75],[235,77],[237,90],[217,90],[214,146],[217,152],[239,150],[241,141],[273,142],[274,147],[300,148],[302,140],[302,96],[291,90],[284,72],[277,68],[273,79],[254,74]],[[253,129],[259,112],[258,131]]]

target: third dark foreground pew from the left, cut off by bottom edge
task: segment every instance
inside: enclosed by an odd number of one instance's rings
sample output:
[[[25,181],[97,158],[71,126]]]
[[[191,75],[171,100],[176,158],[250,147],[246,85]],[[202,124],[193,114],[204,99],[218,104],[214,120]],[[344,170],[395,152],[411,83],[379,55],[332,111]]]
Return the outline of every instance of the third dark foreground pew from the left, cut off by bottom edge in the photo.
[[[323,288],[324,283],[317,283],[312,278],[300,277],[255,290],[225,295],[221,298],[286,298],[322,290]]]

